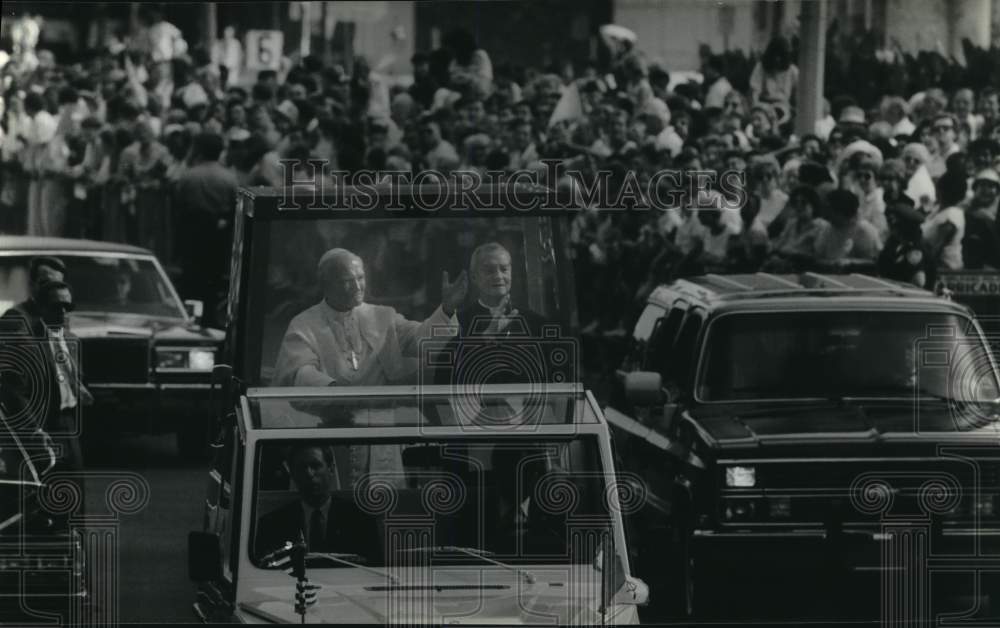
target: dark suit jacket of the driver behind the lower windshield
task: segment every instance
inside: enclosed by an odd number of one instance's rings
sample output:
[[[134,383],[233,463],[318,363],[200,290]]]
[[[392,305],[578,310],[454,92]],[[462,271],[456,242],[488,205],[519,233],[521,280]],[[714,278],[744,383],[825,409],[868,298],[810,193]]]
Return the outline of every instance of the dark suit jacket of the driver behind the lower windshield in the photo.
[[[375,516],[361,512],[349,500],[337,497],[331,499],[321,551],[358,554],[372,562],[381,561],[382,547]],[[267,513],[257,523],[254,555],[259,558],[280,548],[285,541],[297,541],[300,531],[305,536],[306,527],[302,502],[299,500]]]

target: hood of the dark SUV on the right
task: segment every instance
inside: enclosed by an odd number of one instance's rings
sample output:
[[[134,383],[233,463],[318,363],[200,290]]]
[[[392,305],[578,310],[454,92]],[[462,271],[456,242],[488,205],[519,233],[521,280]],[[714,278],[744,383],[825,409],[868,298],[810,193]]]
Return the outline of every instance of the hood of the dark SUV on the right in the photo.
[[[1000,416],[985,408],[937,400],[843,401],[768,408],[732,404],[692,414],[706,440],[735,447],[819,441],[995,440],[1000,436]]]

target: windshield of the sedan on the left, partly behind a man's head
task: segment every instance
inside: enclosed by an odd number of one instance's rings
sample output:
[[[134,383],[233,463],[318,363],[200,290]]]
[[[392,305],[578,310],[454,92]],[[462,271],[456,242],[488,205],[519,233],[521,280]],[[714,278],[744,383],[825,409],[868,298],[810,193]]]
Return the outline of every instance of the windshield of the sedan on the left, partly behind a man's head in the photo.
[[[0,256],[0,310],[28,298],[33,255]],[[59,253],[75,314],[185,317],[169,280],[149,258],[120,254]]]

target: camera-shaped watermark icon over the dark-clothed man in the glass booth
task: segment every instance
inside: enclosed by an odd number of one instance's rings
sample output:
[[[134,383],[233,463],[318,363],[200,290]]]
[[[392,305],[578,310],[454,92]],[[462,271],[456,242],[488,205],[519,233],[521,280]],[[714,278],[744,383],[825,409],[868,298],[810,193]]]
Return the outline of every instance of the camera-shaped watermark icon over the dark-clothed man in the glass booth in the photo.
[[[470,431],[573,424],[569,390],[579,381],[579,356],[578,340],[558,325],[535,335],[517,317],[502,329],[479,317],[462,335],[438,327],[420,342],[418,403],[425,416]]]

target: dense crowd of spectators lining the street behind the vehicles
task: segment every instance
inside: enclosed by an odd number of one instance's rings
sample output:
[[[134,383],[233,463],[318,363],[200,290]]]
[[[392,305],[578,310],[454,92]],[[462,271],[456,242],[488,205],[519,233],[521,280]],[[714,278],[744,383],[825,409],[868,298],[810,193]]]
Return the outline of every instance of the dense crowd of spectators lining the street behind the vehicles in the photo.
[[[0,231],[151,248],[197,297],[225,275],[238,186],[282,185],[281,160],[541,173],[556,159],[574,174],[548,183],[570,188],[743,173],[742,189],[706,185],[663,211],[570,218],[591,330],[623,330],[630,304],[693,273],[864,268],[931,288],[940,270],[1000,268],[1000,90],[985,70],[957,85],[934,75],[943,87],[927,82],[933,68],[911,72],[877,99],[828,83],[823,118],[799,137],[797,46],[781,37],[735,70],[731,54],[703,50],[700,83],[672,81],[614,28],[601,29],[600,62],[551,72],[494,67],[457,30],[413,55],[412,84],[363,58],[348,71],[315,56],[252,82],[155,5],[142,17],[139,37],[72,64],[36,52],[30,29],[15,42],[0,69]],[[873,71],[894,63],[872,55]]]

